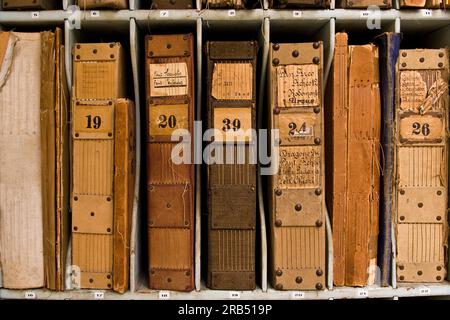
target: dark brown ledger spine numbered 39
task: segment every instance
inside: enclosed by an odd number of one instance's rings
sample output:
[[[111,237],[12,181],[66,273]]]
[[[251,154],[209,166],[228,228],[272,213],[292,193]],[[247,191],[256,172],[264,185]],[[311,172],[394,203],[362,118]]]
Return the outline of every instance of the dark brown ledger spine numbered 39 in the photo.
[[[256,41],[208,42],[207,286],[255,288]],[[249,131],[250,130],[250,131]],[[214,160],[215,161],[214,161]]]

